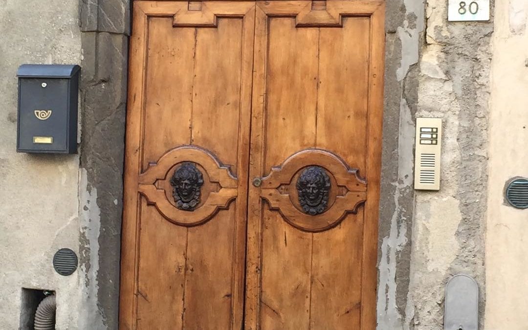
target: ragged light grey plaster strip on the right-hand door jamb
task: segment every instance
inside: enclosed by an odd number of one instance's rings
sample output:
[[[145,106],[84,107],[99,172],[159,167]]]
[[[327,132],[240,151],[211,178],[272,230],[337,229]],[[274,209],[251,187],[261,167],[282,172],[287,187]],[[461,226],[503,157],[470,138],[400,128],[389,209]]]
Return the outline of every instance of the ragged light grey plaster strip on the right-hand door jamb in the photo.
[[[424,29],[424,4],[422,1],[403,0],[399,8],[405,15],[403,22],[396,28],[396,35],[401,43],[401,55],[399,67],[396,68],[395,78],[401,88],[400,110],[398,127],[398,171],[391,182],[393,188],[394,210],[390,216],[389,234],[381,238],[381,257],[379,263],[379,289],[378,289],[378,329],[397,330],[409,329],[413,317],[413,307],[403,303],[398,304],[398,295],[407,292],[407,288],[399,288],[398,284],[407,284],[402,281],[398,274],[398,259],[402,250],[409,246],[410,238],[408,223],[410,196],[412,196],[413,182],[413,145],[414,145],[414,123],[411,106],[416,107],[416,100],[406,95],[406,79],[411,69],[418,63],[420,38]],[[388,17],[389,20],[391,19]],[[390,74],[388,76],[391,76]],[[415,77],[410,78],[411,80]],[[412,89],[414,82],[410,81],[408,89]],[[404,309],[404,310],[402,310]],[[403,315],[405,314],[405,315]]]

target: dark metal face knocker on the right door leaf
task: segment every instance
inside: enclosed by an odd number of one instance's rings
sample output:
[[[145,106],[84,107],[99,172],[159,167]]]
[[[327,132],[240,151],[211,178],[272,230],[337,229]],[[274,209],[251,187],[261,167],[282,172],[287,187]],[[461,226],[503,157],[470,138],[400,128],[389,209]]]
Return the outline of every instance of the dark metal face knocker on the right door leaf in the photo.
[[[297,180],[299,203],[303,212],[310,215],[321,214],[328,206],[330,178],[320,166],[306,168]]]

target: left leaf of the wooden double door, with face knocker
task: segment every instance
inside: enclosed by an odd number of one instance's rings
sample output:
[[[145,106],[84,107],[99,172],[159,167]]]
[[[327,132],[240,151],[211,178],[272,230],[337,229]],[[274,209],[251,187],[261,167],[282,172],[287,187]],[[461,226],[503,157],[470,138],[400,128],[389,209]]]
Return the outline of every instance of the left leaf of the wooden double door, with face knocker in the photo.
[[[134,2],[120,328],[242,326],[254,2]]]

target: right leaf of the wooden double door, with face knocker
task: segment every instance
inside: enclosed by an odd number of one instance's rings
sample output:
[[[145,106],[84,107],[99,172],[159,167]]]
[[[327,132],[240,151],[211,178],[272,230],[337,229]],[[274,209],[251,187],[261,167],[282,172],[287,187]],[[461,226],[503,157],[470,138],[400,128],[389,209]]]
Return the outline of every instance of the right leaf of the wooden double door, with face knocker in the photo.
[[[257,2],[247,329],[374,329],[384,3]]]

